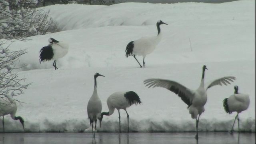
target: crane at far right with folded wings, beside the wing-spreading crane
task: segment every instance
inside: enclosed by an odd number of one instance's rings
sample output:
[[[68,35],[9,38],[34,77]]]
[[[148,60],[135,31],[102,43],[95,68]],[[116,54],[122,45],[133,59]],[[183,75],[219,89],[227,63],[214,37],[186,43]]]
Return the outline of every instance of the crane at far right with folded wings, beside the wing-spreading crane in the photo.
[[[238,93],[238,86],[234,86],[235,92],[229,98],[223,100],[223,107],[226,113],[231,114],[232,112],[237,112],[233,126],[230,133],[233,133],[234,124],[238,122],[238,132],[239,132],[239,118],[238,114],[244,110],[247,110],[250,104],[250,98],[248,94]]]

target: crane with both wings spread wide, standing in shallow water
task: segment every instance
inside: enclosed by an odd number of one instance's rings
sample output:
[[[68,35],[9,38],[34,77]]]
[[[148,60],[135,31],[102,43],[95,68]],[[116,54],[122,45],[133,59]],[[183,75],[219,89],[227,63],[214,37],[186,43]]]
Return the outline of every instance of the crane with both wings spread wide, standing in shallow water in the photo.
[[[226,76],[223,78],[218,78],[213,80],[206,88],[204,87],[204,72],[207,70],[206,66],[203,66],[202,71],[202,79],[200,86],[196,90],[190,90],[186,86],[179,84],[178,82],[172,80],[163,80],[157,78],[150,78],[144,80],[144,84],[148,86],[148,88],[152,87],[162,87],[166,88],[175,94],[177,94],[183,102],[188,105],[189,113],[191,114],[191,118],[196,119],[196,139],[198,139],[198,122],[200,115],[204,112],[204,105],[207,101],[207,93],[208,88],[212,86],[217,86],[222,84],[227,85],[233,80],[236,80],[233,76]]]

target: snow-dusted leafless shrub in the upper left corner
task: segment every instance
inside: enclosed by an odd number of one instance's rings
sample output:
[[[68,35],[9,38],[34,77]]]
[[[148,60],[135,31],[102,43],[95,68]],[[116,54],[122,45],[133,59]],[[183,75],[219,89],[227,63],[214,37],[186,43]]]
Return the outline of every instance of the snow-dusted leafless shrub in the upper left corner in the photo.
[[[1,39],[25,39],[29,36],[58,31],[52,18],[48,16],[49,11],[22,6],[24,4],[12,4],[1,0]]]

